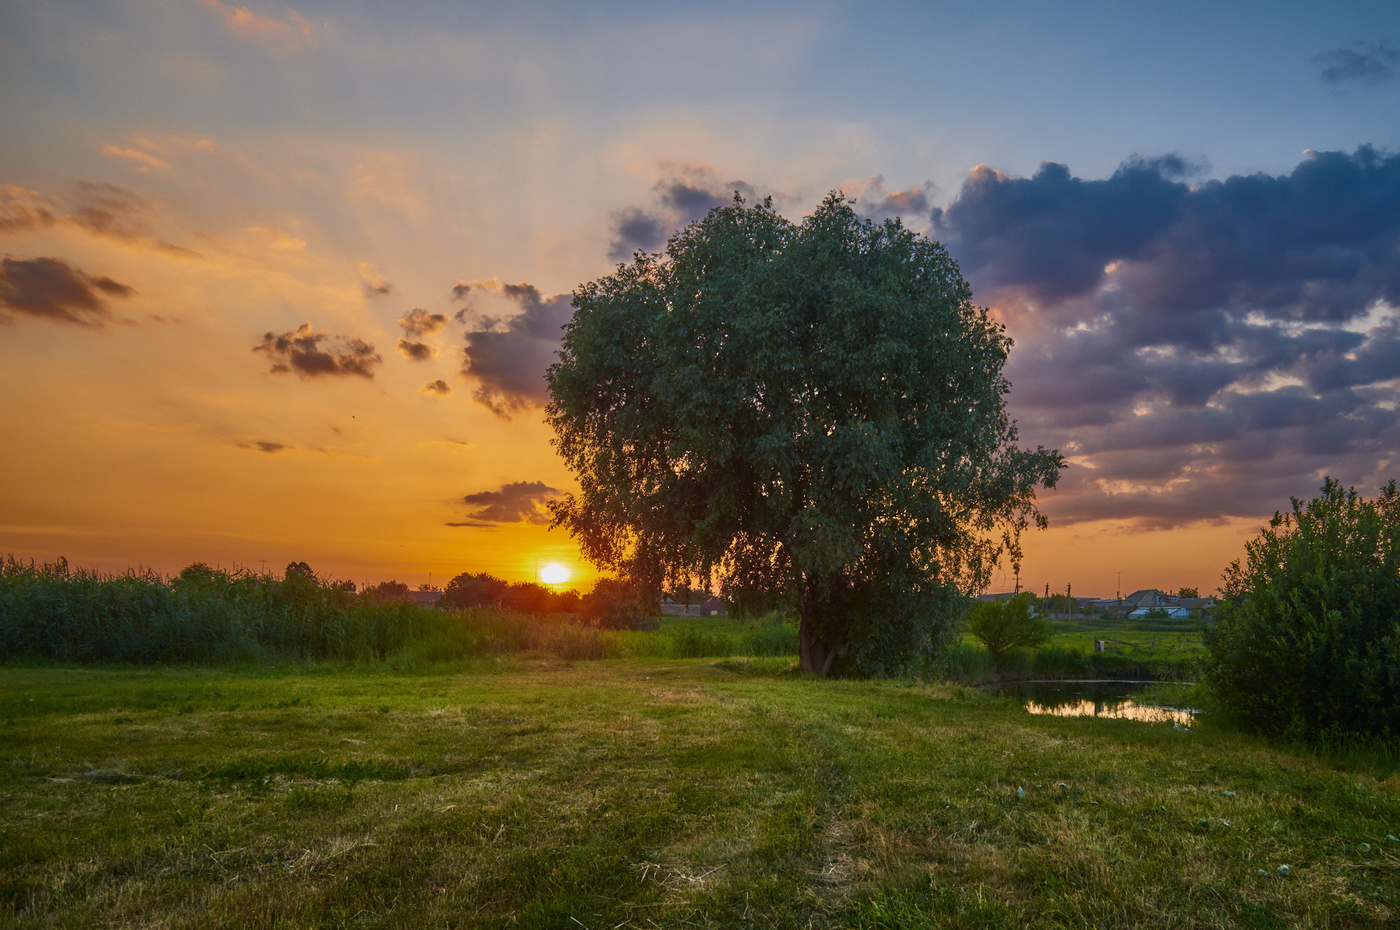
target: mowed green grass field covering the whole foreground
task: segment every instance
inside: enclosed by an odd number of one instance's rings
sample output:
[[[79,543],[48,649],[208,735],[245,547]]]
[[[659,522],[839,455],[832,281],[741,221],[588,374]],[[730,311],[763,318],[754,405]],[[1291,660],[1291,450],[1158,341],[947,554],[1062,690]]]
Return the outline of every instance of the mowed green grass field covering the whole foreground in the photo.
[[[785,665],[0,667],[0,924],[1400,922],[1393,772]]]

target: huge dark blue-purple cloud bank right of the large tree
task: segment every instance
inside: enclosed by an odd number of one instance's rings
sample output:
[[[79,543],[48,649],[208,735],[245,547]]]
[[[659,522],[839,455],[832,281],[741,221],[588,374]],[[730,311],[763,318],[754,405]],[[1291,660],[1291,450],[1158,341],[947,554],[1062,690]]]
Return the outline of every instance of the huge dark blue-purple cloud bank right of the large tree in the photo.
[[[1022,441],[1071,458],[1051,520],[1261,517],[1400,462],[1400,155],[1200,172],[981,167],[932,211],[1016,339]]]

